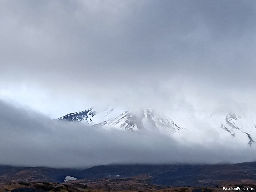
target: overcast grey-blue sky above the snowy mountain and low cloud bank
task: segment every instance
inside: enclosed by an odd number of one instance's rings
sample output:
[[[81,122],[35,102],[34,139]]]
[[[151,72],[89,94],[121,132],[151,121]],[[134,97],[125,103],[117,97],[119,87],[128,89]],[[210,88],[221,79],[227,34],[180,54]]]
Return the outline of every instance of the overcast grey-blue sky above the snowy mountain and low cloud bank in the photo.
[[[0,98],[50,118],[108,103],[246,111],[255,10],[246,0],[3,0]]]

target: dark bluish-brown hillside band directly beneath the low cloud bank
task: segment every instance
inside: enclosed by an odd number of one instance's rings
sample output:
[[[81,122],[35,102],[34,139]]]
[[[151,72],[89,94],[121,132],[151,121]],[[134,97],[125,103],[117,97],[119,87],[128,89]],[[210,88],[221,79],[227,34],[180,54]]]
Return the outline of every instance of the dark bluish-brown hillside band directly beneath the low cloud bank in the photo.
[[[256,163],[217,165],[101,165],[89,169],[54,169],[46,167],[0,166],[0,182],[56,182],[63,183],[64,177],[77,180],[116,180],[124,182],[127,178],[140,178],[139,183],[156,186],[197,186],[215,187],[218,183],[230,180],[256,180]],[[146,176],[142,182],[141,177]],[[69,181],[71,182],[71,181]],[[76,181],[73,181],[76,182]],[[138,183],[138,182],[137,182]],[[117,190],[120,188],[117,187]]]

